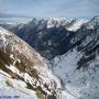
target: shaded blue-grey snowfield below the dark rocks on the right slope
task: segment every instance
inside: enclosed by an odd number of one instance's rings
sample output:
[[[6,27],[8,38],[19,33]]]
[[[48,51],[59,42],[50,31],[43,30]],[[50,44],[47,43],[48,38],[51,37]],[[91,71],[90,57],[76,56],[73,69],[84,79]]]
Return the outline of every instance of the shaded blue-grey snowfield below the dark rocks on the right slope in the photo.
[[[63,81],[66,98],[62,99],[98,99],[99,98],[99,56],[89,63],[88,69],[77,70],[77,62],[82,56],[76,48],[53,59],[53,73]]]

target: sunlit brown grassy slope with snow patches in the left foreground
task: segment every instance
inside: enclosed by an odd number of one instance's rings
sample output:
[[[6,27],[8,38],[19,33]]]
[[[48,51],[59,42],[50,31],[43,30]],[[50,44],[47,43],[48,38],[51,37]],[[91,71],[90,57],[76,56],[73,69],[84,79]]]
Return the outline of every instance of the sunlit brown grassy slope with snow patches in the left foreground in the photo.
[[[0,96],[58,99],[62,85],[40,54],[0,28]],[[18,95],[16,95],[18,94]]]

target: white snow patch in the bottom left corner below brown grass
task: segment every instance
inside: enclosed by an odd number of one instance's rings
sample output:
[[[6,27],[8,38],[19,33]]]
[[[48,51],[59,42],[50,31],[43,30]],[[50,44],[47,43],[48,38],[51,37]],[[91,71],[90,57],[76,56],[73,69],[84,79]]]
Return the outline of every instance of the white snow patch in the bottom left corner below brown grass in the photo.
[[[21,80],[11,79],[0,70],[0,98],[10,99],[37,99],[33,90],[26,89],[25,84]],[[6,98],[6,99],[7,99]]]

